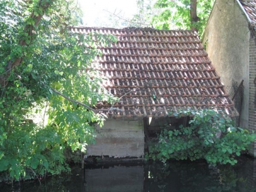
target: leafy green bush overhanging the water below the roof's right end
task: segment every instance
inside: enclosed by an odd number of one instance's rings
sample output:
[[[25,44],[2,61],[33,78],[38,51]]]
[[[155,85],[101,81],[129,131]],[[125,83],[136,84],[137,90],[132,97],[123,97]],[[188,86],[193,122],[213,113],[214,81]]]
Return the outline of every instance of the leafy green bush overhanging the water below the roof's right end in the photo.
[[[204,158],[212,165],[234,165],[237,163],[235,157],[248,149],[256,138],[255,134],[234,127],[232,120],[221,115],[220,111],[188,109],[173,115],[177,118],[181,115],[193,115],[193,118],[189,120],[188,127],[181,125],[179,129],[162,130],[158,143],[150,145],[148,157],[153,160],[166,161],[174,158],[194,161]]]

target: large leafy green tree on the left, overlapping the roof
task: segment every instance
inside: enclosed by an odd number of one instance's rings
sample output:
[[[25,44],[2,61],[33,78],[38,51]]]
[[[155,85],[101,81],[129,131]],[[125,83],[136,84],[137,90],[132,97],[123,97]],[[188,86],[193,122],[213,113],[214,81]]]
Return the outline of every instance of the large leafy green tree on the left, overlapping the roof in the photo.
[[[19,179],[67,170],[64,150],[93,141],[93,107],[116,98],[102,86],[92,61],[113,36],[72,33],[81,11],[73,0],[0,2],[0,172]],[[49,107],[48,124],[29,116]]]

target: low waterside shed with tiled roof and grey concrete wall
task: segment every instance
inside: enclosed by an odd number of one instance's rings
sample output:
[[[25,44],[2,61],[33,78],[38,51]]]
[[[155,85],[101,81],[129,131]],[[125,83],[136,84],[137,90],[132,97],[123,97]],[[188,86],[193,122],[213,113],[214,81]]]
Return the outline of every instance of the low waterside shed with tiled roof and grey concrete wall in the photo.
[[[143,157],[144,133],[155,127],[146,123],[149,118],[188,107],[237,114],[196,32],[96,27],[71,31],[117,37],[117,43],[98,47],[102,55],[87,69],[107,77],[104,87],[119,98],[113,105],[98,102],[97,110],[110,110],[104,126],[97,128],[96,144],[88,146],[88,156]]]

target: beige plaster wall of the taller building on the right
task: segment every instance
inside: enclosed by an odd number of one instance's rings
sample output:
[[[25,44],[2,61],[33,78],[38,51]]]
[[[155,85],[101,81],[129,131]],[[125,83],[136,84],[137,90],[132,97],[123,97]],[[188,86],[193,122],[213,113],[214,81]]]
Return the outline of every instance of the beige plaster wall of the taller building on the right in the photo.
[[[249,114],[249,39],[248,22],[237,1],[216,0],[203,44],[225,86],[232,85],[232,79],[238,84],[244,80],[241,126],[245,128]]]

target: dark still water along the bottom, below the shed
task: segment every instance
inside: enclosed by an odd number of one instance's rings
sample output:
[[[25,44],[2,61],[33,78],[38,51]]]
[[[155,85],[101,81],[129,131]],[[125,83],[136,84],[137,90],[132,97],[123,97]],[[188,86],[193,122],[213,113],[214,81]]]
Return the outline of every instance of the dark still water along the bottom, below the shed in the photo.
[[[84,174],[84,177],[82,176]],[[237,165],[209,167],[205,162],[174,161],[108,164],[72,169],[67,176],[0,186],[0,191],[177,192],[256,191],[256,160],[242,157]]]

